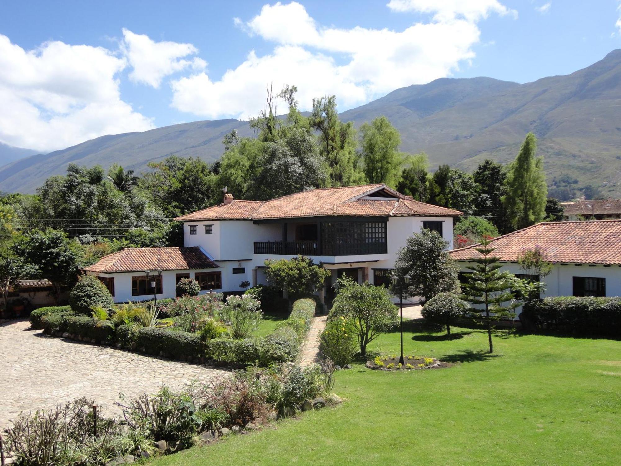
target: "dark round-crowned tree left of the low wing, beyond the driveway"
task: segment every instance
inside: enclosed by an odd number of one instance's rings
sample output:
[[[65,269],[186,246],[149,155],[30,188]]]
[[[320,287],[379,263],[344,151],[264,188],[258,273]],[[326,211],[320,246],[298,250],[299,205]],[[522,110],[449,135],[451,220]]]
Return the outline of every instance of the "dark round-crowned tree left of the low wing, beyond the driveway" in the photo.
[[[57,303],[63,288],[73,286],[78,278],[79,243],[62,231],[34,230],[19,241],[16,250],[36,276],[52,283]]]

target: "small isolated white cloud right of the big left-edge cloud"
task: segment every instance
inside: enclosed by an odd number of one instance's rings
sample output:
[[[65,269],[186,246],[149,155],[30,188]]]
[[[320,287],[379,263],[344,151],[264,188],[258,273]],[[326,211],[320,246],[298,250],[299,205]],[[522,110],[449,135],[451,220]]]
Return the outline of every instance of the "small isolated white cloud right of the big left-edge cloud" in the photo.
[[[133,70],[130,80],[159,88],[161,80],[177,71],[191,68],[202,71],[207,63],[201,58],[182,60],[188,55],[195,55],[198,50],[191,43],[155,42],[147,35],[134,34],[123,29],[124,40],[121,43],[125,57]]]

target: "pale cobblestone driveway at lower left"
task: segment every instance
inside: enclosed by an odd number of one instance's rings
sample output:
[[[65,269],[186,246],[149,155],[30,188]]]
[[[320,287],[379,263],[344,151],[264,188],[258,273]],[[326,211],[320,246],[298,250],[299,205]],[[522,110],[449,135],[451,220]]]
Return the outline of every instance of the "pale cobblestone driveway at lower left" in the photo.
[[[0,426],[29,411],[86,396],[117,413],[119,393],[152,393],[162,384],[180,388],[228,372],[110,347],[48,337],[28,321],[0,326]]]

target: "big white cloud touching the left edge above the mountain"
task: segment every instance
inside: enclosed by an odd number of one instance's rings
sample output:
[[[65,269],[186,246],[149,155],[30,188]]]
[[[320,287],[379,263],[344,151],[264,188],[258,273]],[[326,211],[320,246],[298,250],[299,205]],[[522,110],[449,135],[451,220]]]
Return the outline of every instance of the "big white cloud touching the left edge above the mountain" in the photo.
[[[125,66],[102,47],[55,41],[24,50],[0,35],[0,141],[47,152],[152,128],[120,99]]]

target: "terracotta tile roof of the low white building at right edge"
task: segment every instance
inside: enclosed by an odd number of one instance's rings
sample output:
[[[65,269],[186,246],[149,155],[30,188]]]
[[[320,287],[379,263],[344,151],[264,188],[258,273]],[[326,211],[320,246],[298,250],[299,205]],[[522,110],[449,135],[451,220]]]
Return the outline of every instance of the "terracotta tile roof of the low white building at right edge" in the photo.
[[[472,245],[449,252],[455,260],[480,257]],[[621,220],[542,222],[492,240],[493,255],[516,261],[524,249],[539,246],[559,263],[621,264]]]

